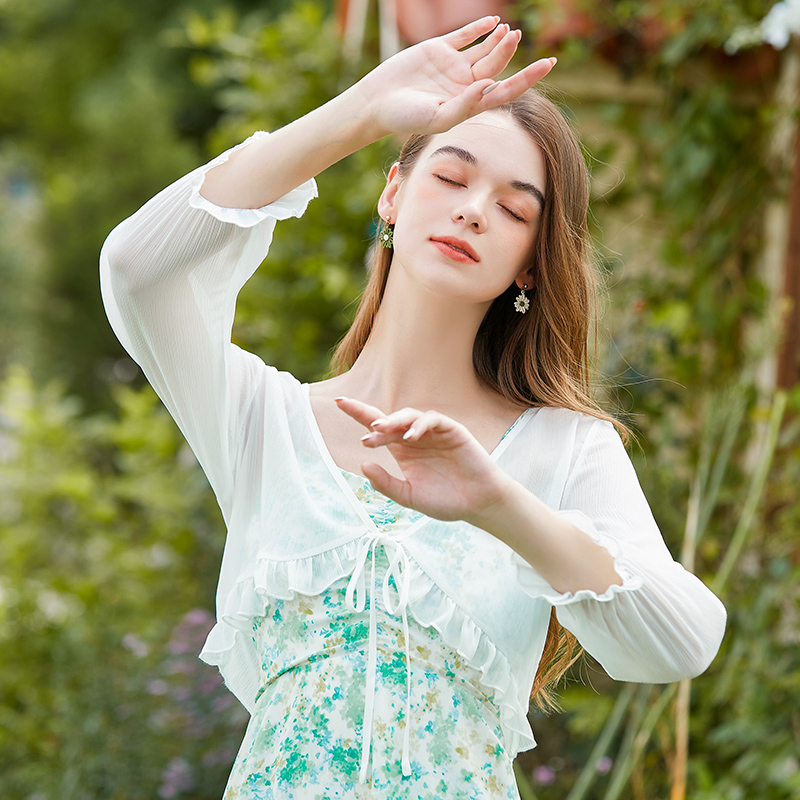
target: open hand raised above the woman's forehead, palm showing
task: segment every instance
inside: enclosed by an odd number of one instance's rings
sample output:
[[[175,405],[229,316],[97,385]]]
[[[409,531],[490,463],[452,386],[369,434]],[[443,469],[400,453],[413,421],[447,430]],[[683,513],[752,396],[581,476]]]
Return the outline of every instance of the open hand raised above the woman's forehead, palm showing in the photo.
[[[508,66],[522,36],[498,21],[499,17],[483,17],[420,42],[353,86],[376,138],[388,133],[441,133],[518,97],[547,75],[555,59],[540,59],[495,84],[495,76]],[[469,47],[486,34],[484,41]]]

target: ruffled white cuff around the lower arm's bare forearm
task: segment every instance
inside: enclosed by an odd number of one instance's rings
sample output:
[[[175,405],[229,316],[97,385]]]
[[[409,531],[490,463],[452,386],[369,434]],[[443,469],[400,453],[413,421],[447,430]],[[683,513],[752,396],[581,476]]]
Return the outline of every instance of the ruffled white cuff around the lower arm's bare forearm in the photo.
[[[519,553],[512,552],[511,560],[517,568],[517,582],[525,594],[546,600],[553,606],[566,606],[583,600],[607,603],[620,592],[630,592],[641,588],[642,579],[630,569],[621,557],[618,542],[601,534],[594,523],[581,511],[557,511],[556,513],[582,530],[593,542],[608,550],[614,559],[614,569],[622,578],[622,584],[613,583],[602,594],[598,594],[592,589],[558,592]]]

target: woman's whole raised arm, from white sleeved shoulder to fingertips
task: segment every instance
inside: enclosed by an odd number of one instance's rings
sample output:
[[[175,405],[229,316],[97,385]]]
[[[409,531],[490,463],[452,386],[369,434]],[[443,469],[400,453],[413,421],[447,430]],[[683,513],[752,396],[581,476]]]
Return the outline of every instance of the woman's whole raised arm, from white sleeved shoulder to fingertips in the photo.
[[[275,222],[302,214],[316,195],[311,178],[349,153],[387,133],[445,130],[552,68],[543,59],[495,84],[519,43],[518,32],[497,23],[485,17],[397,54],[305,117],[168,186],[106,240],[101,286],[112,327],[192,446],[224,514],[241,420],[271,374],[230,342],[236,296],[264,259]]]

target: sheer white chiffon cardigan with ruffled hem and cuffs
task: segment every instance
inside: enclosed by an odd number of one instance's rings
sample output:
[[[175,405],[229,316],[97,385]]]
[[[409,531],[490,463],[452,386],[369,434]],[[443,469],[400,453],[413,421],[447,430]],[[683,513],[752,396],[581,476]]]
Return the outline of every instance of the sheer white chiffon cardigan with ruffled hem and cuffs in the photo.
[[[199,189],[227,157],[114,229],[101,287],[115,333],[180,426],[222,509],[218,621],[200,658],[218,666],[252,713],[253,619],[273,598],[313,596],[363,570],[359,551],[375,528],[325,446],[308,385],[231,343],[237,294],[266,256],[276,220],[302,215],[316,185],[260,209],[221,208]],[[535,746],[526,713],[553,606],[613,678],[666,683],[706,669],[725,609],[670,556],[612,425],[529,409],[492,457],[606,547],[623,579],[599,595],[559,593],[503,542],[460,521],[423,517],[392,543],[390,557],[402,551],[405,565],[394,576],[407,592],[403,613],[435,627],[480,671],[511,757]]]

